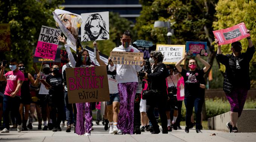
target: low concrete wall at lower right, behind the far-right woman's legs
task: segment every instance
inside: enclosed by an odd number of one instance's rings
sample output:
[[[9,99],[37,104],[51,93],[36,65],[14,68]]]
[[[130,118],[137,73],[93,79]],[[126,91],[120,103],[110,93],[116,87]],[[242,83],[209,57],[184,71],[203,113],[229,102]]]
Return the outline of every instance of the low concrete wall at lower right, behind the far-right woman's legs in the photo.
[[[230,111],[208,119],[210,130],[229,132],[226,123],[230,121]],[[239,132],[256,132],[256,109],[244,109],[237,122]]]

